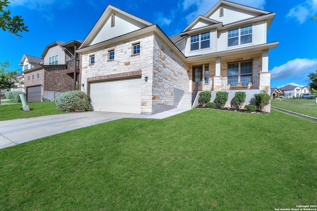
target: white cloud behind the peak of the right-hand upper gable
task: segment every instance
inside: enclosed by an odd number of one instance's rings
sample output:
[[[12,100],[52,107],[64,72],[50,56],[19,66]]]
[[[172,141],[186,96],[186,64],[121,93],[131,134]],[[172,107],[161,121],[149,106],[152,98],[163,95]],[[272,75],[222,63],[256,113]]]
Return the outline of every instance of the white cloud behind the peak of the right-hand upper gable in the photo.
[[[187,23],[193,21],[198,15],[205,15],[219,0],[184,0],[178,5],[183,11],[193,10],[186,16]],[[232,2],[264,9],[265,0],[232,0]]]

